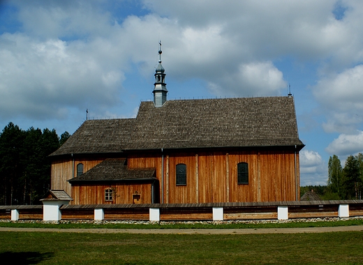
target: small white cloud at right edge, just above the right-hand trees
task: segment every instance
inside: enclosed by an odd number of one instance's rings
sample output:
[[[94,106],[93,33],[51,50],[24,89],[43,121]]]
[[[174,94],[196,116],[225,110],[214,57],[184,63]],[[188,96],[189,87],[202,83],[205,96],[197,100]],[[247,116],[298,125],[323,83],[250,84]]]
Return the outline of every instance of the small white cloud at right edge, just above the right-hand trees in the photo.
[[[363,131],[356,131],[355,134],[341,134],[327,146],[326,151],[337,156],[356,155],[363,153]]]

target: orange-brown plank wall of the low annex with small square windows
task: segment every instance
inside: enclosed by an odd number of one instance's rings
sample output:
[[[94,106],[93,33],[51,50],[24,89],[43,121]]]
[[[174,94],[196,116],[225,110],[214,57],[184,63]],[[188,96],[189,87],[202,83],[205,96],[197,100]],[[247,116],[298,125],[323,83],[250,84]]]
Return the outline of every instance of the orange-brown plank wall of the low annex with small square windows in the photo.
[[[112,202],[105,201],[105,189],[114,189]],[[151,183],[117,185],[73,185],[71,204],[133,204],[133,195],[140,195],[140,204],[151,204]]]

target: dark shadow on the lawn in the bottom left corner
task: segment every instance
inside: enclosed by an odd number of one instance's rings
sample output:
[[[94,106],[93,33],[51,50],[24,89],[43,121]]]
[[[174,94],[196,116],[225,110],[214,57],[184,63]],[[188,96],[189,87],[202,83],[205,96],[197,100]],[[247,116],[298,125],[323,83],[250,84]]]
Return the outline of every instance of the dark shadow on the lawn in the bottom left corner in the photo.
[[[0,261],[6,261],[8,264],[37,264],[43,260],[50,259],[54,256],[52,252],[0,252]]]

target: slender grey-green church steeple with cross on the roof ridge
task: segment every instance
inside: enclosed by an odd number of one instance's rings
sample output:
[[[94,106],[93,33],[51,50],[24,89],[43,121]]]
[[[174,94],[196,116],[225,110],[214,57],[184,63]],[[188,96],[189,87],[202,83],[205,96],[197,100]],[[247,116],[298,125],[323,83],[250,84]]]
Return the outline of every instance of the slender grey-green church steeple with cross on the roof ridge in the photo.
[[[162,107],[166,102],[166,94],[168,93],[168,89],[166,89],[165,84],[165,69],[161,65],[161,41],[159,42],[159,61],[158,67],[155,70],[155,83],[154,83],[154,105],[155,107]]]

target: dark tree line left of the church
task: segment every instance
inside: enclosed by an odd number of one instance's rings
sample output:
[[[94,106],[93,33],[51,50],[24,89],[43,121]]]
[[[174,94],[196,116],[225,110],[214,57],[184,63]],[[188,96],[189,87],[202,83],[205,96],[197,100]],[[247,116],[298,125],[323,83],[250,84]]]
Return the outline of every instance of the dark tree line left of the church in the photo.
[[[50,188],[48,156],[71,135],[47,128],[22,130],[13,123],[0,134],[0,204],[40,204]]]

